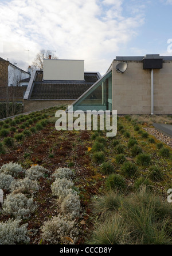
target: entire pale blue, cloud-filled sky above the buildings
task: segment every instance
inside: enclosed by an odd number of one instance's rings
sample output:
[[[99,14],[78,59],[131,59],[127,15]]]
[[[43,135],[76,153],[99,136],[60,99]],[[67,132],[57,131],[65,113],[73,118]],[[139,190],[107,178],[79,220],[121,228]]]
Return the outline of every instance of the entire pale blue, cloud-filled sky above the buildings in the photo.
[[[172,0],[0,0],[0,57],[26,70],[54,50],[104,75],[116,56],[172,55],[171,13]]]

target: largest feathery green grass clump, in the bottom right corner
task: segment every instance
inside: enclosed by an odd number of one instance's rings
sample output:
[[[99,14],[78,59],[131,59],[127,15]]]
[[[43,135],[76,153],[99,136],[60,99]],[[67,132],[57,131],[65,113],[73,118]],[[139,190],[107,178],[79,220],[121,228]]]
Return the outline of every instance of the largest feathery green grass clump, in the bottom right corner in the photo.
[[[126,199],[120,216],[127,221],[134,244],[172,243],[169,205],[145,187]]]

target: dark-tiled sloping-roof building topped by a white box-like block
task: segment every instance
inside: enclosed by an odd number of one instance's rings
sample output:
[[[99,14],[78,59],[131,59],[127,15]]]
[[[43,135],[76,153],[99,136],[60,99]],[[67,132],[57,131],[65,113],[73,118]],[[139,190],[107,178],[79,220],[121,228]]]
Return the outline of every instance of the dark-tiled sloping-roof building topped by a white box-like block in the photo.
[[[45,59],[35,70],[24,96],[25,112],[71,105],[97,80],[99,72],[85,72],[84,61]]]

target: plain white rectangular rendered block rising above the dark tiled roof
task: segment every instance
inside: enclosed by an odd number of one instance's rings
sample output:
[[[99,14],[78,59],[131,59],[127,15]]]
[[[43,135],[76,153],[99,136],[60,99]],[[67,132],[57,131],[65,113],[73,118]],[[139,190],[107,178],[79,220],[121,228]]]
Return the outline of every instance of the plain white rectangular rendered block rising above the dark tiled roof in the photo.
[[[84,61],[44,59],[44,80],[84,80]]]

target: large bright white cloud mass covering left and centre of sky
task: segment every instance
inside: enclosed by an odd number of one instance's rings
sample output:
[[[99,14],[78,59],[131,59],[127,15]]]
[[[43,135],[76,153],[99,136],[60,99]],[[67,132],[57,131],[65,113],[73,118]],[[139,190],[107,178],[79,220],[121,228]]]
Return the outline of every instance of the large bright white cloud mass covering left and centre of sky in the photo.
[[[133,4],[135,1],[130,0]],[[10,0],[0,3],[1,57],[28,65],[41,48],[59,58],[85,59],[85,69],[104,73],[116,52],[143,24],[143,5],[131,15],[124,0]],[[128,0],[127,0],[128,2]],[[133,10],[134,10],[133,5]],[[2,47],[1,47],[2,48]]]

